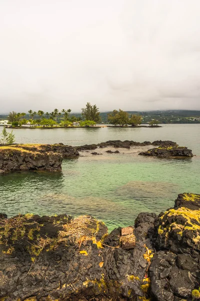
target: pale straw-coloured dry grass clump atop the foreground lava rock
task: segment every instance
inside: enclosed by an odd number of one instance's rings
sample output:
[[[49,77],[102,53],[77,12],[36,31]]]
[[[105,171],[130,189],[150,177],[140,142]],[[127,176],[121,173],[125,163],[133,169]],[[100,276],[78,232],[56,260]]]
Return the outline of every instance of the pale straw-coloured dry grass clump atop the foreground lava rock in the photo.
[[[92,228],[92,223],[95,222],[96,227]],[[83,236],[92,238],[99,230],[99,221],[92,219],[88,215],[82,215],[75,217],[62,226],[64,231],[59,231],[59,237],[69,236],[74,239],[75,242],[78,242],[79,239]]]

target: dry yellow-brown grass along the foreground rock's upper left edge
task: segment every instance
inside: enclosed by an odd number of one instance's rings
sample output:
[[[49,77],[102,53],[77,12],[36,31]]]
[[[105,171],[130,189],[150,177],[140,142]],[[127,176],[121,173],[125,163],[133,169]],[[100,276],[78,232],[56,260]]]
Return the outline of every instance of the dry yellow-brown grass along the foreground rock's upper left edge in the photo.
[[[63,230],[58,231],[53,238],[41,235],[39,232],[43,224],[30,220],[31,217],[31,214],[19,214],[10,219],[0,218],[0,244],[7,246],[3,253],[11,254],[14,250],[12,245],[23,237],[25,237],[24,241],[28,243],[28,245],[26,244],[27,251],[31,256],[34,256],[31,258],[33,262],[35,256],[38,256],[42,250],[50,251],[60,244],[67,245],[69,240],[73,240],[80,246],[82,241],[91,239],[98,248],[102,247],[101,242],[95,239],[95,234],[99,230],[99,221],[92,219],[90,216],[79,216],[68,223],[62,221],[64,223],[62,224]],[[61,220],[57,221],[57,224],[60,222]],[[37,231],[37,233],[34,233],[34,231]],[[10,247],[8,248],[8,246]]]

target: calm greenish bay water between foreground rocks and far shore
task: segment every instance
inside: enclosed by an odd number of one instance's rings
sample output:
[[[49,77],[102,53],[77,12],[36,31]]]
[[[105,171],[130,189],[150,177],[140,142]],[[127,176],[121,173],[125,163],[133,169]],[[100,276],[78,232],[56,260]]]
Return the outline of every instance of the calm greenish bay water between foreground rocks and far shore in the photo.
[[[0,176],[0,212],[13,216],[91,214],[109,229],[133,224],[139,212],[159,213],[173,206],[178,193],[200,193],[200,125],[160,128],[14,129],[18,143],[81,145],[107,140],[173,140],[192,149],[186,160],[137,156],[139,149],[101,156],[81,153],[64,160],[61,173],[23,172]],[[122,154],[124,152],[125,154]]]

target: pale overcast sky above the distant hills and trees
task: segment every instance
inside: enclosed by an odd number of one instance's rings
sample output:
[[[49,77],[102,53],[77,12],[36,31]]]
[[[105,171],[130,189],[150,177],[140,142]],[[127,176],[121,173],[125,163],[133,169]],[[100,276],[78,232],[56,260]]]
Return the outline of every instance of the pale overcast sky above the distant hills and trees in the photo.
[[[0,0],[0,113],[200,109],[200,0]]]

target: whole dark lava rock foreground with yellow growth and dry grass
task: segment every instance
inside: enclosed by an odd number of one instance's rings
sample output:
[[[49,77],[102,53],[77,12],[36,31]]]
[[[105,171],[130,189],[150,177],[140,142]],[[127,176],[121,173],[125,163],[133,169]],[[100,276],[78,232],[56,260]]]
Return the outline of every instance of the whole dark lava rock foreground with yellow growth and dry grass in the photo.
[[[199,208],[180,194],[109,235],[91,216],[0,214],[0,300],[198,300]]]

